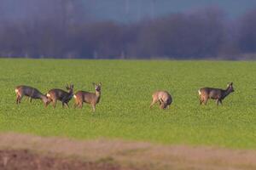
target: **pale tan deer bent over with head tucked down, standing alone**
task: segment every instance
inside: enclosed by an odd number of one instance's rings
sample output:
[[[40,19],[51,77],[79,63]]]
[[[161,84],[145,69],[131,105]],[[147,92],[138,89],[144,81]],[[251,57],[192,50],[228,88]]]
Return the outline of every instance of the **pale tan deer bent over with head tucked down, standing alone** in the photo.
[[[160,104],[160,109],[166,109],[166,107],[169,108],[169,105],[172,104],[172,96],[166,91],[156,91],[152,94],[152,103],[149,107],[152,108],[157,102]]]

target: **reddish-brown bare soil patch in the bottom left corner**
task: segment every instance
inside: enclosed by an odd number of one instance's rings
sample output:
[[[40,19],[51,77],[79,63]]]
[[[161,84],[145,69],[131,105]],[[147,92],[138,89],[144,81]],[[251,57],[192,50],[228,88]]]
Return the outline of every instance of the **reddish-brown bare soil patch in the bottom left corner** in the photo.
[[[71,158],[41,156],[29,150],[0,150],[0,169],[6,170],[119,170],[117,165],[102,162],[85,162]]]

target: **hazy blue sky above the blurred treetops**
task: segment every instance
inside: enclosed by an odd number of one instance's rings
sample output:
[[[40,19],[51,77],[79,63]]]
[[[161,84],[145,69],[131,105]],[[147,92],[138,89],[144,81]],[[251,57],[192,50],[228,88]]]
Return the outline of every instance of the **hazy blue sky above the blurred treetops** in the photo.
[[[209,6],[221,8],[228,18],[237,18],[256,8],[256,0],[0,0],[1,15],[22,19],[31,15],[53,13],[61,2],[79,2],[84,14],[92,20],[113,20],[123,23],[184,13]],[[57,3],[53,3],[57,2]],[[51,12],[50,12],[51,10]],[[73,9],[76,12],[76,8]]]

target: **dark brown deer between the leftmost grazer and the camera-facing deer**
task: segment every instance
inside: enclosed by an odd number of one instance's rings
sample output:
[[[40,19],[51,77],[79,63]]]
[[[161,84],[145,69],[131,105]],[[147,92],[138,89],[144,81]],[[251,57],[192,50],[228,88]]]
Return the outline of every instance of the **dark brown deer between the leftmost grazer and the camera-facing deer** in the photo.
[[[70,85],[70,86],[67,85],[66,88],[67,88],[67,92],[59,88],[53,88],[49,90],[49,92],[46,94],[46,96],[49,99],[49,102],[47,103],[47,105],[49,105],[49,103],[52,102],[52,105],[55,108],[56,101],[60,100],[62,104],[62,108],[64,107],[64,105],[67,105],[67,107],[69,107],[67,103],[73,97],[73,85]]]

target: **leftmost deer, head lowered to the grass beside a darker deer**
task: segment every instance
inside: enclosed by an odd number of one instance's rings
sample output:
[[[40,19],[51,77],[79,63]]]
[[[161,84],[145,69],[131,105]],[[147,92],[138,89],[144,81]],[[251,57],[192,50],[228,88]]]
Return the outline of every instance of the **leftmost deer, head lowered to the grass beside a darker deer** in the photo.
[[[20,104],[23,96],[29,97],[30,102],[32,102],[32,99],[42,99],[45,106],[48,103],[48,98],[44,94],[42,94],[37,88],[32,88],[29,86],[17,86],[15,88],[15,94],[17,105]]]

